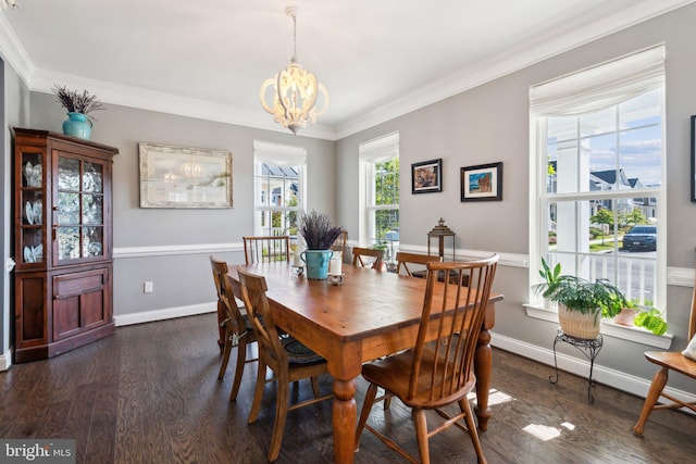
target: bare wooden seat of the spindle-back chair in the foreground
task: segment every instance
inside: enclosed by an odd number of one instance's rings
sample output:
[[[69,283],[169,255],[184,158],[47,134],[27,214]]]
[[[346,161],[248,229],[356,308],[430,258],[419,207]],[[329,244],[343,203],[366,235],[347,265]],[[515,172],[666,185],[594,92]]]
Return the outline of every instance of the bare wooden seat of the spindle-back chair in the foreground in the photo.
[[[431,353],[433,352],[431,347],[433,347],[433,343],[428,344],[430,347],[424,349],[418,391],[412,398],[409,398],[409,383],[411,366],[413,365],[413,350],[407,350],[399,354],[365,364],[362,367],[362,376],[371,384],[375,384],[384,388],[386,391],[394,393],[403,402],[403,404],[410,407],[435,409],[450,404],[473,389],[473,386],[476,383],[476,377],[472,373],[470,377],[471,379],[463,386],[463,388],[455,391],[452,394],[443,396],[438,398],[437,401],[433,401],[431,399],[433,391],[438,390],[440,387],[444,387],[446,391],[449,388],[449,380],[451,380],[451,377],[447,377],[448,383],[445,385],[438,383],[433,386],[431,378],[433,372],[442,372],[439,369],[445,368],[445,363],[439,363],[437,367],[433,367],[434,363],[431,361]],[[448,368],[451,369],[451,364],[448,365]]]

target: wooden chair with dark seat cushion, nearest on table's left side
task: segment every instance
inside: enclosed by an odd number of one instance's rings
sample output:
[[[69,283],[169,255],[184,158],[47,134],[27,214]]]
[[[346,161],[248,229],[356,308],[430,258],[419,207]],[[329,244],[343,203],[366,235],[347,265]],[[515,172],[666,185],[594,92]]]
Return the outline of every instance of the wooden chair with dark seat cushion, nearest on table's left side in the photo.
[[[277,381],[275,419],[268,453],[269,462],[273,462],[277,460],[281,452],[287,413],[298,407],[333,398],[333,394],[320,396],[319,391],[319,376],[326,374],[328,369],[326,360],[295,338],[278,337],[273,313],[265,294],[268,291],[265,278],[247,273],[240,266],[237,267],[237,273],[251,326],[259,340],[259,369],[253,402],[249,412],[249,424],[253,424],[259,416],[266,384],[266,368],[270,368],[274,374],[274,378],[270,381]],[[229,276],[227,278],[231,279]],[[314,398],[289,405],[289,385],[306,378],[311,379]]]

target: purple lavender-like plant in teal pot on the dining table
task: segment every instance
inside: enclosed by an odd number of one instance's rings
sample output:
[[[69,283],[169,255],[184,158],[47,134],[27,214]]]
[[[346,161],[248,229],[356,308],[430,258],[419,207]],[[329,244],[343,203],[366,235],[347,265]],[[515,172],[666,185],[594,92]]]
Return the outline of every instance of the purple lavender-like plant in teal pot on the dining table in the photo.
[[[328,273],[328,261],[333,255],[331,246],[343,233],[341,227],[334,227],[331,218],[315,210],[300,217],[300,234],[307,250],[300,259],[307,264],[307,278],[325,279]]]

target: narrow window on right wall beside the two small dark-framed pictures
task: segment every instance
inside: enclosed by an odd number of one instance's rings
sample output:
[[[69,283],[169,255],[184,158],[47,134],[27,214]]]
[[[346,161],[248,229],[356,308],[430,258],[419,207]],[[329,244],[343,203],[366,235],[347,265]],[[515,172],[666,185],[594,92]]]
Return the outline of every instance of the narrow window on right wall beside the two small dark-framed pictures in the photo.
[[[399,248],[399,135],[360,143],[364,173],[360,242],[385,250],[393,262]]]

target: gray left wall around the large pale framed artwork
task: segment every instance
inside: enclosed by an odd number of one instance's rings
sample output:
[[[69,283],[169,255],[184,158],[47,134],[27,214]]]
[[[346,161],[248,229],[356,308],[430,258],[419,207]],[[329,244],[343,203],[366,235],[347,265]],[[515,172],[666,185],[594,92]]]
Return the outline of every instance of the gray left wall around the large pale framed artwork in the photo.
[[[95,113],[91,140],[117,147],[113,168],[114,316],[176,309],[215,299],[210,254],[244,262],[241,237],[253,235],[253,140],[303,147],[308,152],[307,202],[336,217],[335,143],[229,124],[107,105]],[[32,92],[32,127],[62,130],[65,114],[50,93]],[[233,153],[234,208],[225,210],[140,209],[138,143],[157,142],[228,150]],[[232,247],[229,247],[232,244]],[[152,251],[152,247],[179,252]],[[142,252],[119,258],[125,249]],[[202,251],[196,251],[202,248]],[[152,281],[154,291],[142,292]]]

